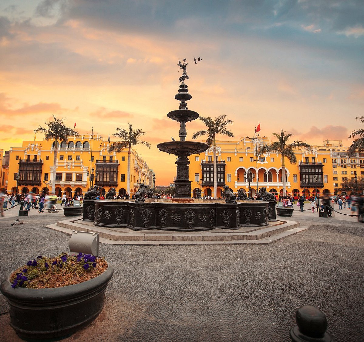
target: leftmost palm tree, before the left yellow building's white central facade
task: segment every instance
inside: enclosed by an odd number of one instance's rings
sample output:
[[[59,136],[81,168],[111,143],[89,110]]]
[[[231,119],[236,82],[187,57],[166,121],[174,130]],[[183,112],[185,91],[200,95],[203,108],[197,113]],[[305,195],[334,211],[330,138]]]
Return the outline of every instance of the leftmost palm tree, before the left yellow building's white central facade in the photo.
[[[67,127],[62,119],[58,119],[53,116],[53,121],[44,121],[45,127],[39,126],[35,132],[44,133],[44,137],[46,140],[55,140],[54,143],[54,151],[53,151],[53,175],[52,175],[52,189],[51,192],[55,192],[56,188],[56,171],[57,171],[57,150],[58,150],[58,141],[68,141],[69,136],[78,137],[79,134],[72,128]]]

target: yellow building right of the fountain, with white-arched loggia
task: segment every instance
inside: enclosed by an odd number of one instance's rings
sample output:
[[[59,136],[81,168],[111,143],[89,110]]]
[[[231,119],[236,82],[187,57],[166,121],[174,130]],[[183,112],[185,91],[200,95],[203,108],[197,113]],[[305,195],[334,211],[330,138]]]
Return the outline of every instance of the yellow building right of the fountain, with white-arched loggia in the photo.
[[[258,137],[258,148],[271,143],[266,137]],[[308,142],[309,143],[309,142]],[[281,155],[268,153],[256,158],[255,137],[241,137],[234,141],[216,141],[217,148],[217,196],[222,197],[222,186],[237,193],[242,189],[249,196],[254,196],[257,189],[266,187],[267,191],[279,195],[282,189]],[[320,193],[341,193],[341,182],[345,177],[353,178],[364,174],[364,153],[356,153],[349,158],[348,147],[340,140],[325,140],[322,146],[313,146],[311,150],[295,151],[297,164],[290,164],[285,159],[286,192],[291,194],[317,191]],[[202,195],[215,197],[213,194],[213,151],[212,147],[199,155],[190,156],[189,175],[192,196],[201,188]],[[363,171],[357,172],[361,168]],[[249,174],[252,175],[249,190]],[[258,173],[258,177],[257,177]],[[201,182],[202,180],[202,182]]]

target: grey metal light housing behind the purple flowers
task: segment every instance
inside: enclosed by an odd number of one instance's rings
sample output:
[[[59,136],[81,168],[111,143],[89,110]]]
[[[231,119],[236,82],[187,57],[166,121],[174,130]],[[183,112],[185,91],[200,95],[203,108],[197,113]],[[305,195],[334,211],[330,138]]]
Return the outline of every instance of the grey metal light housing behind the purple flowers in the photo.
[[[99,233],[74,230],[70,238],[70,252],[99,256]]]

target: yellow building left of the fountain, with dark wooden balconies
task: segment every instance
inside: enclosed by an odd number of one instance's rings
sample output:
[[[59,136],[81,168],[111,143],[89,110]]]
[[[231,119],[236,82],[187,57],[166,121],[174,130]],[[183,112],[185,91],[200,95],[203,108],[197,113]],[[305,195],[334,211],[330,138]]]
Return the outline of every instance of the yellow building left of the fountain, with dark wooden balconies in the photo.
[[[130,189],[126,189],[128,151],[108,154],[109,144],[97,134],[69,137],[67,143],[60,142],[55,193],[84,194],[91,185],[98,185],[102,187],[103,194],[115,187],[117,193],[129,193],[131,196],[138,190],[140,182],[148,184],[149,167],[132,149]],[[55,141],[51,140],[23,141],[22,147],[12,147],[9,151],[8,192],[15,192],[17,186],[21,192],[50,191],[54,147]]]

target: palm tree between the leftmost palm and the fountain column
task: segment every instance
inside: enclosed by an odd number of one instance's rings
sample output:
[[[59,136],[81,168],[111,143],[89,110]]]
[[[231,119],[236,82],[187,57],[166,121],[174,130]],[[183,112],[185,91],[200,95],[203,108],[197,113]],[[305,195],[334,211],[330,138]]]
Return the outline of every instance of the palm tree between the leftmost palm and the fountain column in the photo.
[[[141,129],[137,129],[136,131],[133,130],[131,124],[129,124],[129,130],[127,131],[124,128],[116,127],[116,133],[114,137],[121,138],[120,141],[115,141],[110,145],[108,153],[116,152],[119,153],[123,151],[123,149],[128,148],[128,175],[127,175],[127,192],[130,194],[130,159],[131,159],[131,147],[143,144],[150,148],[150,144],[144,140],[141,140],[140,137],[145,134]]]

